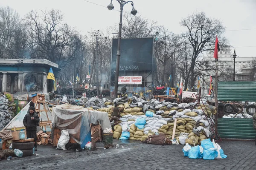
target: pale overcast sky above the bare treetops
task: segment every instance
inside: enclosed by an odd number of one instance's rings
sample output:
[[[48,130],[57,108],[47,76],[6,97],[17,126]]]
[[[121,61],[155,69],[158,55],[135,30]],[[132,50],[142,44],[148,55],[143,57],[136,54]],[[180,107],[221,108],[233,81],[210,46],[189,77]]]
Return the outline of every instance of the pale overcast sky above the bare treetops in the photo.
[[[139,15],[156,20],[159,25],[166,26],[176,34],[183,29],[180,27],[183,17],[196,11],[204,11],[208,17],[222,21],[227,28],[225,36],[230,45],[236,48],[238,56],[256,57],[256,0],[133,1]],[[14,8],[21,17],[31,10],[59,9],[64,13],[67,24],[86,34],[91,29],[104,30],[119,22],[119,11],[109,11],[108,8],[102,7],[108,6],[110,2],[111,0],[0,0],[0,6]],[[113,5],[119,10],[116,0],[113,0]],[[131,11],[131,5],[125,5],[124,10]]]

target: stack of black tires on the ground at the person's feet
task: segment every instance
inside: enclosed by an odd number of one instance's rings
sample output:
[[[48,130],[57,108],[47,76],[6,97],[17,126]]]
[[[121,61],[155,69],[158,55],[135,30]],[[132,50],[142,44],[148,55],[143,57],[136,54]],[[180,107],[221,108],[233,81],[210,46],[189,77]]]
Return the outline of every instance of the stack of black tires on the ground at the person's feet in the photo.
[[[19,149],[23,152],[23,156],[33,155],[34,142],[18,143],[12,142],[12,149]]]

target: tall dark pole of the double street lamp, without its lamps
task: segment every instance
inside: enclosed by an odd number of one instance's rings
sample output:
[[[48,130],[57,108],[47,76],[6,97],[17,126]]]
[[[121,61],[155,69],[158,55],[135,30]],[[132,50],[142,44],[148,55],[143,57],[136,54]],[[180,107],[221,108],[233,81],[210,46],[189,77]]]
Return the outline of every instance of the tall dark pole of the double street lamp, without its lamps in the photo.
[[[120,62],[120,47],[121,47],[121,33],[122,33],[122,11],[124,8],[124,4],[120,3],[120,23],[119,23],[119,31],[118,31],[118,43],[117,43],[117,53],[116,53],[116,77],[115,77],[115,98],[117,98],[118,91],[118,77],[119,77],[119,62]]]

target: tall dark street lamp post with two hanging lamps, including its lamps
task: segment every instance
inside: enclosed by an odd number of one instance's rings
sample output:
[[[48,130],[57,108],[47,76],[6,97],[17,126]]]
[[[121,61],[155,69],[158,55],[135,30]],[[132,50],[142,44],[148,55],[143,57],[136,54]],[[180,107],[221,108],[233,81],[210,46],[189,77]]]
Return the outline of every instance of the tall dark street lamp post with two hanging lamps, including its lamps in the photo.
[[[132,1],[124,1],[124,0],[117,0],[117,2],[120,4],[120,22],[119,22],[119,31],[118,31],[118,43],[117,43],[117,53],[116,53],[116,77],[115,77],[115,98],[117,98],[117,91],[118,91],[118,77],[119,77],[119,62],[120,62],[120,47],[121,47],[121,33],[122,33],[122,11],[124,8],[124,5],[127,3],[131,3],[132,6],[132,10],[131,10],[131,14],[136,15],[137,14],[137,10],[134,9],[134,3]],[[112,10],[114,8],[113,4],[112,4],[112,0],[111,3],[108,5],[108,9]]]

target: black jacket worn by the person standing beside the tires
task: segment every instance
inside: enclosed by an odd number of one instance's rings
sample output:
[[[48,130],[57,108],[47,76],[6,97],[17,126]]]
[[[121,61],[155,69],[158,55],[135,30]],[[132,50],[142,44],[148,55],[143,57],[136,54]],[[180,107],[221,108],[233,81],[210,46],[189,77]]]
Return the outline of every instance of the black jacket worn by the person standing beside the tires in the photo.
[[[34,120],[31,117],[34,117]],[[34,112],[32,116],[30,113],[27,113],[23,119],[23,125],[26,127],[26,130],[36,130],[39,121],[40,119],[37,113]]]

